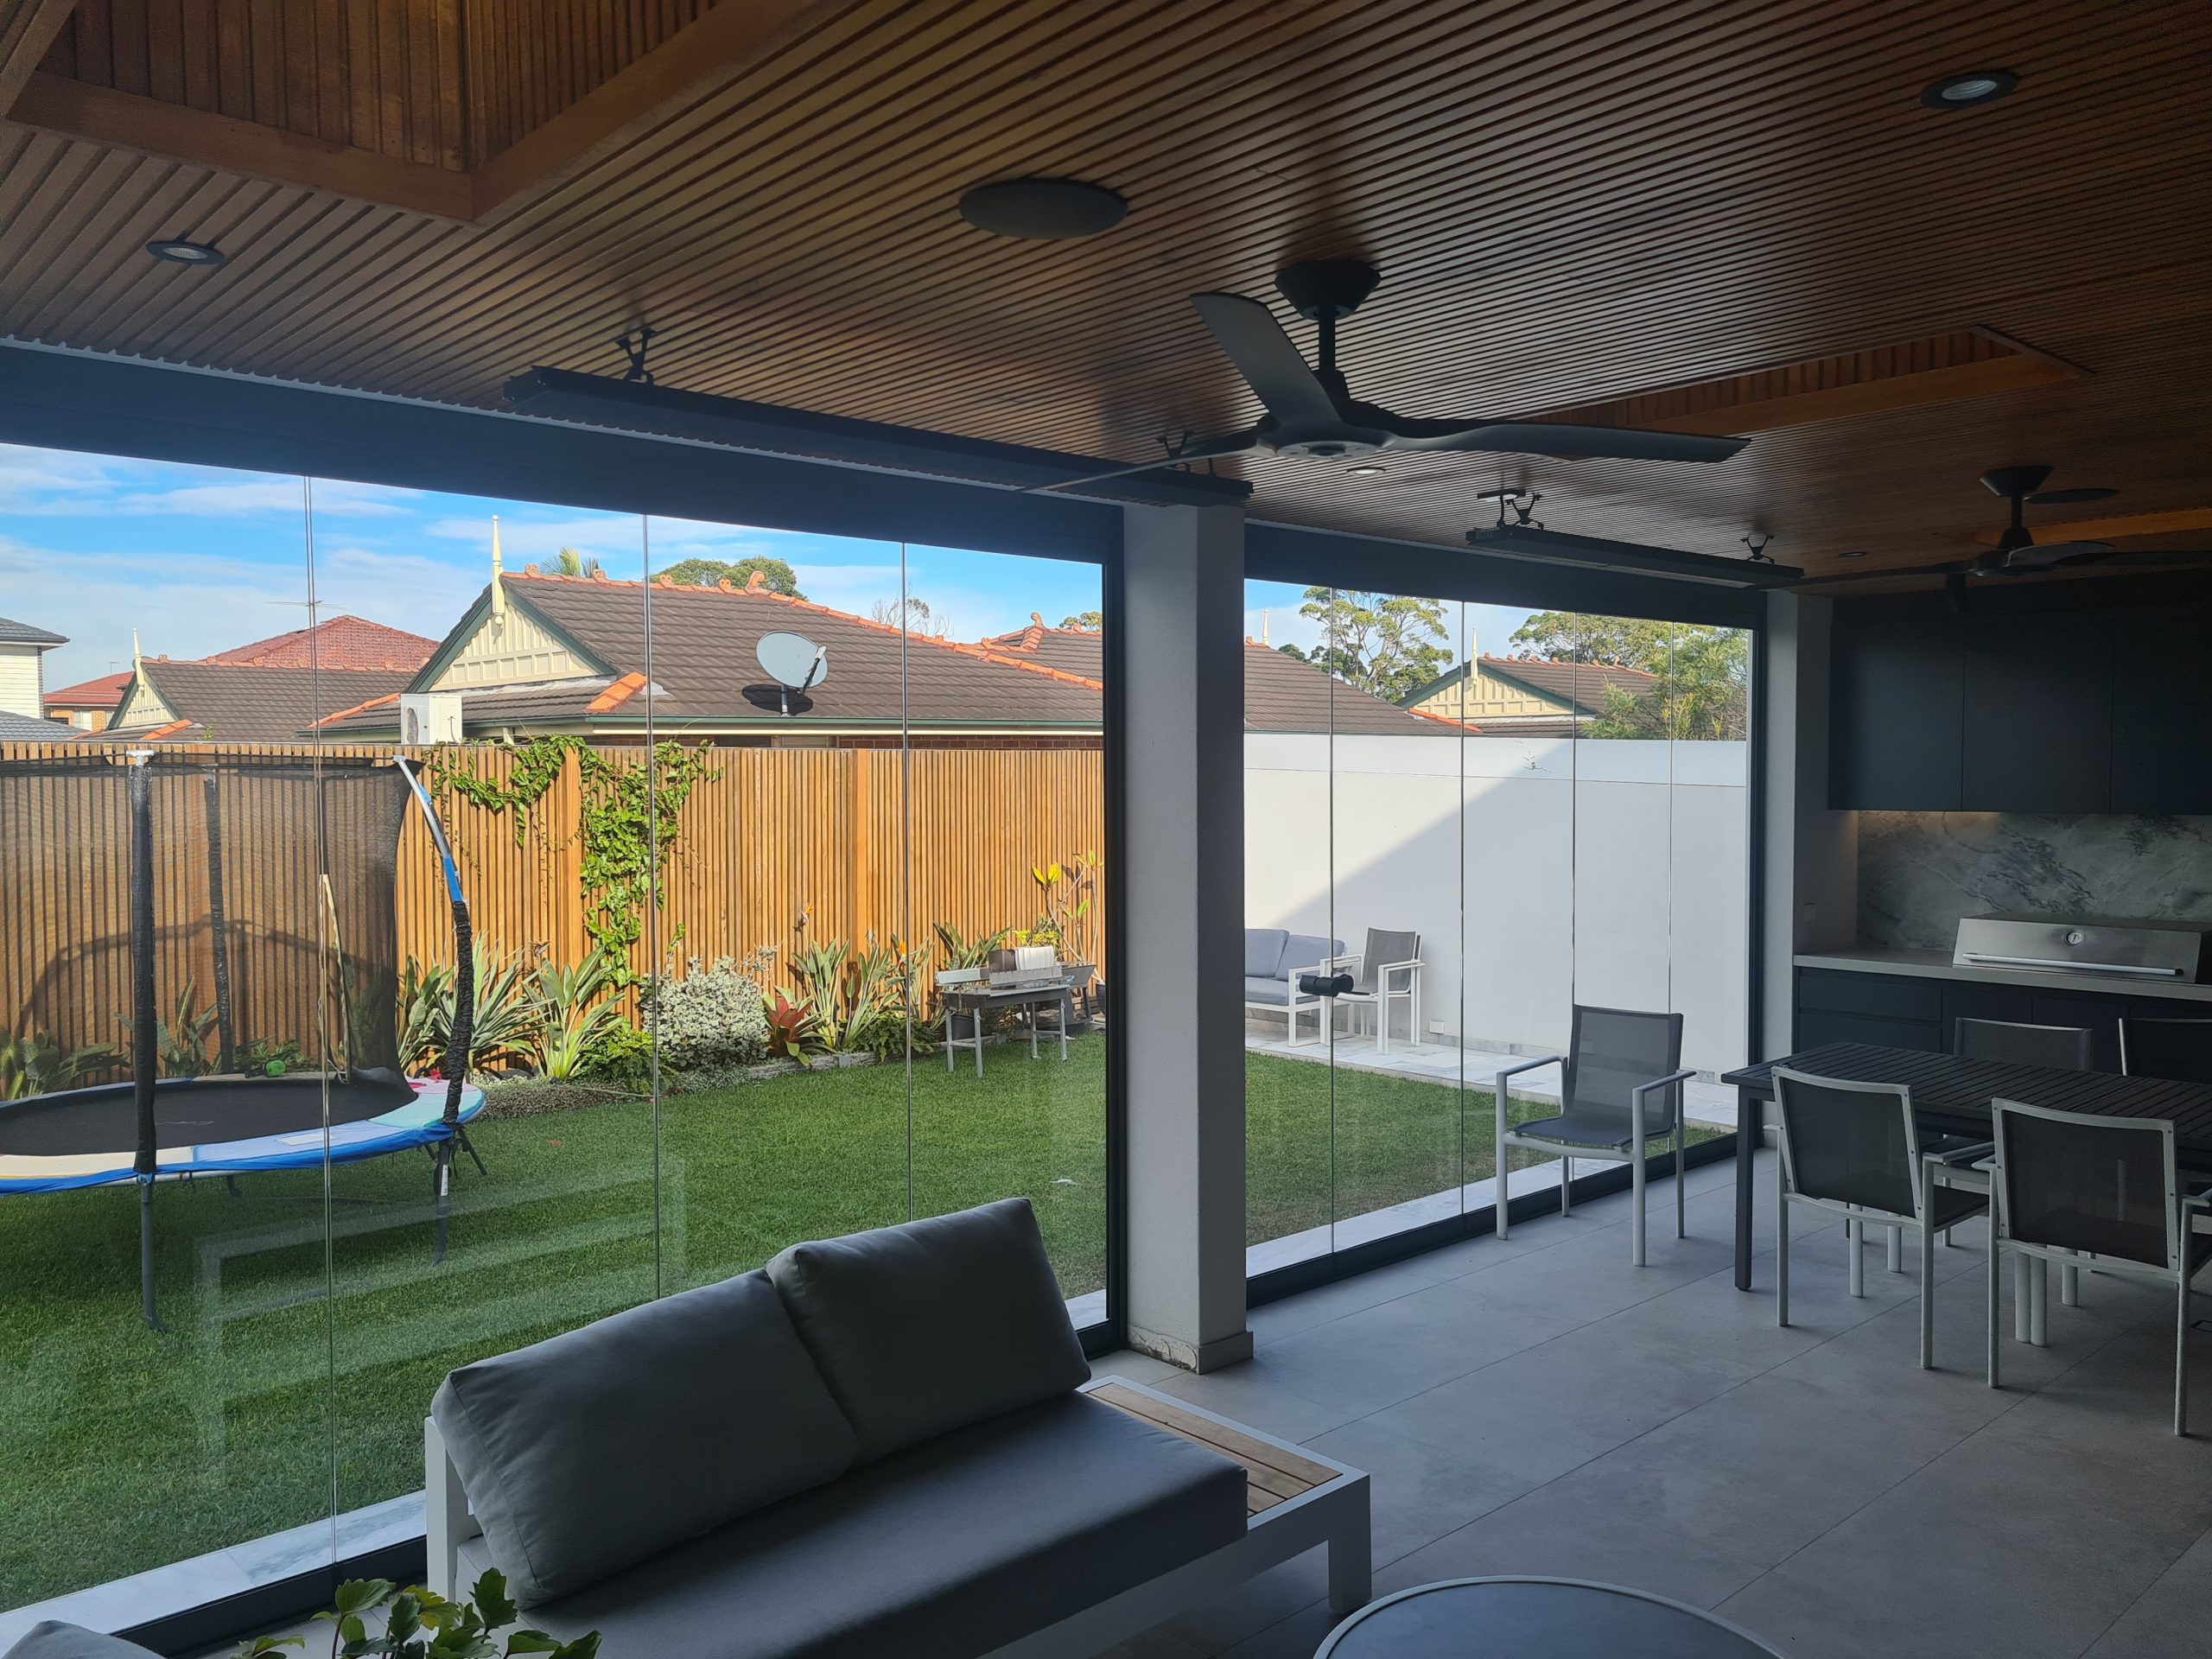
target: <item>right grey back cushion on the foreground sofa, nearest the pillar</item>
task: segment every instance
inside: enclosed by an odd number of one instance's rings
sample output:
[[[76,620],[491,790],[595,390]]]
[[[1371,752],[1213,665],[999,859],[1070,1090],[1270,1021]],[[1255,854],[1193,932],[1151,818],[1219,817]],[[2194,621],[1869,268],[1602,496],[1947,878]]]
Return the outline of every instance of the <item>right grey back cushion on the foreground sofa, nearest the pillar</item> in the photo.
[[[860,1462],[1091,1378],[1029,1199],[792,1245],[768,1276]]]

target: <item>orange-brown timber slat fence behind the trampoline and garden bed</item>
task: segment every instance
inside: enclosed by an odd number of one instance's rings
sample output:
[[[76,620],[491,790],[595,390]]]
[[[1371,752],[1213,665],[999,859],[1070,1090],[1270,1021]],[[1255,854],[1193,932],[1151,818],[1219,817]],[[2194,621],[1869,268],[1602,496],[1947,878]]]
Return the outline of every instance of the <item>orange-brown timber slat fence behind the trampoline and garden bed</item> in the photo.
[[[221,757],[310,765],[372,761],[369,745],[164,745],[164,770]],[[400,750],[407,752],[407,750]],[[602,748],[639,765],[639,748]],[[431,761],[429,752],[407,752]],[[86,763],[113,757],[115,781],[86,783]],[[131,1013],[128,814],[119,745],[0,743],[0,1024],[64,1046],[124,1035]],[[46,776],[40,765],[53,763]],[[513,752],[469,748],[478,776],[507,783]],[[1044,914],[1031,867],[1097,852],[1104,776],[1097,750],[823,750],[712,752],[677,821],[666,869],[661,940],[677,956],[745,958],[768,947],[774,978],[799,945],[874,933],[931,947],[931,922],[964,936],[1029,927]],[[157,998],[164,1018],[192,978],[199,1006],[215,991],[208,803],[221,823],[230,1000],[239,1042],[301,1042],[314,1051],[319,984],[316,849],[283,821],[250,772],[215,790],[175,790],[155,847]],[[440,796],[476,936],[498,949],[544,949],[577,962],[591,949],[580,887],[582,783],[571,757],[553,787],[515,821]],[[292,814],[296,816],[296,812]],[[257,832],[257,825],[263,832]],[[1104,951],[1102,900],[1091,942]],[[803,918],[803,920],[801,920]],[[398,960],[451,958],[451,914],[420,814],[398,849]],[[633,967],[653,967],[648,947]],[[1102,964],[1104,967],[1104,964]],[[212,1046],[212,1033],[210,1033]]]

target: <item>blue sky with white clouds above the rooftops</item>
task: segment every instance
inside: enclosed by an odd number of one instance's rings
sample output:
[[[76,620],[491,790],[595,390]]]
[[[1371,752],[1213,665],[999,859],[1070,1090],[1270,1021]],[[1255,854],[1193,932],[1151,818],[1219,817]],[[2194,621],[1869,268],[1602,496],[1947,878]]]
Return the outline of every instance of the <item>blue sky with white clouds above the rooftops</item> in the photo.
[[[774,553],[818,604],[867,613],[900,595],[900,546],[568,507],[316,480],[314,597],[341,613],[442,637],[491,568],[491,518],[507,566],[573,546],[637,580],[684,557]],[[310,515],[299,478],[0,445],[0,615],[66,635],[46,686],[124,668],[131,630],[148,657],[206,657],[307,619]],[[1097,571],[1060,560],[907,546],[907,591],[953,639],[1006,633],[1040,613],[1095,611]],[[1301,591],[1248,586],[1245,633],[1312,646]],[[1469,606],[1478,648],[1500,653],[1526,613]],[[1453,633],[1460,622],[1453,617]]]

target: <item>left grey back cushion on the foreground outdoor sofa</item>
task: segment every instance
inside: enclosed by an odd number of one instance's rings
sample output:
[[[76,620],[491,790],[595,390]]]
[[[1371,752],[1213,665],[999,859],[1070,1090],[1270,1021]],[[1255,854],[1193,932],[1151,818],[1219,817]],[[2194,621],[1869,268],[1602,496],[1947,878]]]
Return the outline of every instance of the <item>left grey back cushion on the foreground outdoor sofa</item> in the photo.
[[[836,1480],[858,1449],[761,1272],[465,1365],[431,1418],[522,1606]]]

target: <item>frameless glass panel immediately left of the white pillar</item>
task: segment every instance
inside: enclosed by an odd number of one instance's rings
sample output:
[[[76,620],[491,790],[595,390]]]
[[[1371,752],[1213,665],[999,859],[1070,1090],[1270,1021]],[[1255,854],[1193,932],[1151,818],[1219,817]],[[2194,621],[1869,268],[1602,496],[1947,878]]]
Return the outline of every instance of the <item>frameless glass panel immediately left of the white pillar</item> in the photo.
[[[914,1214],[1026,1197],[1095,1325],[1115,1040],[1099,568],[900,553],[905,748],[876,759],[902,858],[869,971],[911,987]]]

